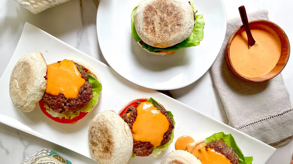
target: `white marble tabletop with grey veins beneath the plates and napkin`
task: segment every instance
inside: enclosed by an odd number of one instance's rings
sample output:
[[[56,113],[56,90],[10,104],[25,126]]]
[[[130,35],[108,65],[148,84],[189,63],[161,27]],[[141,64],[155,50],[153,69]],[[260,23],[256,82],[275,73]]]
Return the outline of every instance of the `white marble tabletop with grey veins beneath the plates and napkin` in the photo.
[[[96,0],[71,0],[62,5],[48,9],[40,14],[31,14],[13,0],[0,1],[0,76],[8,64],[16,48],[25,22],[45,30],[69,45],[105,62],[98,46],[96,33]],[[227,18],[238,16],[238,7],[246,6],[247,12],[267,9],[270,20],[280,25],[293,39],[293,19],[291,0],[224,0]],[[45,44],[45,43],[44,43]],[[292,58],[283,70],[283,77],[289,93],[293,95],[293,62]],[[202,78],[190,86],[173,90],[174,97],[214,117],[228,123],[224,107],[212,82],[208,71]],[[293,96],[291,96],[293,102]],[[77,139],[78,142],[78,139]],[[86,164],[95,161],[62,148],[35,136],[26,134],[0,123],[0,159],[3,164],[17,164],[42,147],[57,151],[72,163]],[[293,141],[285,146],[277,147],[277,151],[267,164],[289,164],[292,160]]]

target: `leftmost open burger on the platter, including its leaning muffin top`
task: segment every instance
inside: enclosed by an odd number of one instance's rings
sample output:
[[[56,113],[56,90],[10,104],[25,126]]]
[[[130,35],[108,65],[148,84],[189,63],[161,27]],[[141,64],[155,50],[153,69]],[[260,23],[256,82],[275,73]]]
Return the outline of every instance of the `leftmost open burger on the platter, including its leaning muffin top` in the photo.
[[[16,63],[9,84],[16,107],[30,112],[39,102],[42,112],[59,123],[76,123],[86,116],[101,90],[88,68],[71,60],[47,65],[40,52],[28,53]]]

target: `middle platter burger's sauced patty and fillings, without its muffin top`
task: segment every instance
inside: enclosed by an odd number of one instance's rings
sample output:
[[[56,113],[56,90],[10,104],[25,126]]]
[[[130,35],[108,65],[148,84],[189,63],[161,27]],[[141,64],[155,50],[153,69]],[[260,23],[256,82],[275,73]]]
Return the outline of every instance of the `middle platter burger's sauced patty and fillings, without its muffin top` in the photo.
[[[130,102],[119,114],[129,125],[133,136],[135,156],[157,157],[173,142],[175,121],[153,98]]]

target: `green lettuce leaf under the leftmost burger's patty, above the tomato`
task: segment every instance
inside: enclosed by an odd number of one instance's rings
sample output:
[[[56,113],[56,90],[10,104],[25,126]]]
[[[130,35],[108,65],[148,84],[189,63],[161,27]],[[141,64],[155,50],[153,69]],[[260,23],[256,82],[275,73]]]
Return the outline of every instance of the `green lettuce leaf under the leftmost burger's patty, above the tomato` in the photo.
[[[89,112],[91,111],[91,108],[98,103],[100,93],[102,91],[102,84],[93,76],[88,74],[88,83],[90,83],[93,86],[93,98],[80,110],[76,112],[62,112],[62,113],[56,113],[52,109],[49,109],[47,104],[45,104],[46,111],[53,117],[65,117],[73,119],[76,116],[79,116],[79,112]]]

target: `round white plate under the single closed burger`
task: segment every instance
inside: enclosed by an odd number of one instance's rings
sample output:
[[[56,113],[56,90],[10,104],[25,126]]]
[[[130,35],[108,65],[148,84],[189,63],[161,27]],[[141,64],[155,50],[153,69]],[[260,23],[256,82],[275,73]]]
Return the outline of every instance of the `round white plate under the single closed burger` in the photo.
[[[147,53],[134,41],[131,13],[140,0],[101,0],[97,13],[100,49],[118,74],[151,89],[173,90],[190,85],[211,67],[226,34],[226,11],[222,0],[191,0],[205,19],[200,45],[173,55]]]

